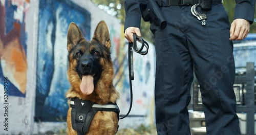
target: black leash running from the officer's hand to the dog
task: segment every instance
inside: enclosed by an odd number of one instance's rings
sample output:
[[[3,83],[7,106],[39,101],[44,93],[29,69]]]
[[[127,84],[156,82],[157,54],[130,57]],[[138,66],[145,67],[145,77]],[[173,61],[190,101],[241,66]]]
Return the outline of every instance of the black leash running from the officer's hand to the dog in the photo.
[[[140,49],[138,49],[137,41],[141,43]],[[146,48],[145,51],[143,51],[144,47]],[[130,114],[130,111],[133,105],[133,87],[132,87],[132,80],[134,80],[133,50],[134,52],[139,53],[141,55],[146,55],[148,52],[148,49],[149,49],[148,43],[142,37],[139,37],[136,34],[133,34],[133,43],[129,42],[128,44],[128,60],[129,60],[128,65],[129,65],[129,80],[130,80],[130,93],[131,93],[130,108],[127,114],[124,117],[119,118],[119,120],[127,117]]]

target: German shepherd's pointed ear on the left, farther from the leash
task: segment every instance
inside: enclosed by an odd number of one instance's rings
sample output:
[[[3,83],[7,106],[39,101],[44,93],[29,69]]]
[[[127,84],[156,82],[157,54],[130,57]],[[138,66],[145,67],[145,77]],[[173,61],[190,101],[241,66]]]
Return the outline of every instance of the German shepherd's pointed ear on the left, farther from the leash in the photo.
[[[74,23],[71,22],[69,25],[69,30],[68,30],[68,43],[67,43],[67,49],[70,52],[70,50],[76,46],[77,43],[79,43],[81,40],[83,40],[82,33],[78,26]]]

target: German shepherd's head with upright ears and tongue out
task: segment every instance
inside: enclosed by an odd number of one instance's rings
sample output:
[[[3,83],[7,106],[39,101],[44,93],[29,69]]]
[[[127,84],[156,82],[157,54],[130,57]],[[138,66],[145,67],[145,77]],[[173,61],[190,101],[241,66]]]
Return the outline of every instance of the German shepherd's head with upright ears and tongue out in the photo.
[[[70,24],[68,78],[75,91],[90,95],[103,76],[113,76],[110,47],[110,34],[104,21],[99,22],[91,41],[83,38],[74,22]]]

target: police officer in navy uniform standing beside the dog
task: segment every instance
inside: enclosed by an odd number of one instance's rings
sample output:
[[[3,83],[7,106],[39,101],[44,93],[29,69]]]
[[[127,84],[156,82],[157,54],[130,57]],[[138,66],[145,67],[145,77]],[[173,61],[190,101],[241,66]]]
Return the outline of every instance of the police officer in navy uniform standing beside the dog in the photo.
[[[157,133],[190,134],[187,105],[195,71],[201,88],[207,134],[241,134],[232,87],[235,67],[231,40],[247,36],[255,0],[236,0],[231,26],[221,0],[212,0],[207,10],[202,8],[202,3],[196,7],[197,13],[206,15],[205,24],[191,11],[198,0],[157,1],[167,21],[163,29],[154,20],[150,27],[155,36],[157,56]],[[146,3],[146,0],[124,1],[124,36],[129,42],[133,42],[133,33],[141,36],[141,11]]]

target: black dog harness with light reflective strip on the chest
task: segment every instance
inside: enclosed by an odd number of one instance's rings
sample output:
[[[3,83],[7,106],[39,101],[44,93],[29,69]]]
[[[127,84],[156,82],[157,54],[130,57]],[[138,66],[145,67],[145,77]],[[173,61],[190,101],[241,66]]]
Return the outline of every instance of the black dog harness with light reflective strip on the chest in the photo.
[[[91,101],[84,101],[78,98],[70,100],[71,122],[72,128],[77,131],[77,134],[85,135],[88,132],[89,126],[97,111],[115,111],[117,119],[119,118],[119,108],[116,103],[95,104]],[[118,127],[117,127],[118,128]],[[117,131],[118,129],[116,129]]]

